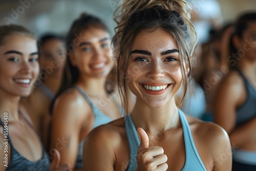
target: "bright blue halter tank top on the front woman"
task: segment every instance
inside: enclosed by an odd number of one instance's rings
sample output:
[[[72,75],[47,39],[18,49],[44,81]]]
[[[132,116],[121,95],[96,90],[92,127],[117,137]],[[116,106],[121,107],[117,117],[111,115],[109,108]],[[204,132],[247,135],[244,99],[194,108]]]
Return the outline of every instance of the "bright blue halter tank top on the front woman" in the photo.
[[[182,171],[206,171],[206,168],[197,152],[196,145],[193,141],[189,124],[181,110],[179,110],[179,116],[182,124],[186,153],[185,165],[183,166]],[[138,134],[131,115],[129,115],[125,120],[125,131],[130,147],[130,161],[126,170],[133,171],[137,168],[136,156],[140,145],[140,140],[138,138]]]

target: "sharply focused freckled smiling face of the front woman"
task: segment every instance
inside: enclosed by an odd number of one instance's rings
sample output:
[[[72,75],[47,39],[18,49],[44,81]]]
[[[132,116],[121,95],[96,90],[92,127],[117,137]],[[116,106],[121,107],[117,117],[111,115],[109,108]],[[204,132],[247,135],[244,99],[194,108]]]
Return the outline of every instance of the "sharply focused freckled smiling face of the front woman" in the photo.
[[[181,59],[172,35],[158,29],[142,31],[134,39],[127,84],[152,108],[166,104],[181,86]]]

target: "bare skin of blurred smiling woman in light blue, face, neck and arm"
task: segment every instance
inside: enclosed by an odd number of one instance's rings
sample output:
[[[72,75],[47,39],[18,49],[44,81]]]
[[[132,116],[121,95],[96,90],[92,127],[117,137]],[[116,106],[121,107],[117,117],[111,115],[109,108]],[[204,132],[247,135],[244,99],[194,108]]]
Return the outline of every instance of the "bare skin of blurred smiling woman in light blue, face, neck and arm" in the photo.
[[[81,33],[80,44],[70,54],[73,66],[79,70],[75,85],[79,86],[97,107],[110,118],[121,115],[113,97],[105,92],[104,84],[114,62],[110,35],[105,30],[90,27]],[[63,92],[53,109],[51,148],[59,149],[60,163],[74,168],[80,141],[91,131],[94,116],[89,103],[74,88]],[[59,139],[65,143],[59,145]]]

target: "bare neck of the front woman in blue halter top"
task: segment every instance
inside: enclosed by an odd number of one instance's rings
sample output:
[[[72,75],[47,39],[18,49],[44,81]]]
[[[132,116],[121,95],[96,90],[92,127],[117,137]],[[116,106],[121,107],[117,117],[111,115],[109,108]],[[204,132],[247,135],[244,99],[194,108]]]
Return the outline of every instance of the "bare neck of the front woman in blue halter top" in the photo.
[[[137,99],[131,115],[135,127],[141,127],[151,135],[177,127],[179,123],[179,111],[174,98],[160,108],[150,108]]]

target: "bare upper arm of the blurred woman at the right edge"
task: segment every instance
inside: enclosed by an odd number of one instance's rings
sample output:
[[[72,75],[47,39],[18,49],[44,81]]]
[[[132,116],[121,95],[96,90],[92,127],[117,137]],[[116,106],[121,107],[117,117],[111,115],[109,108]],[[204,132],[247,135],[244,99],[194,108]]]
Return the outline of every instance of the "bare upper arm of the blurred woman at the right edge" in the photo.
[[[215,122],[222,126],[228,134],[236,124],[236,108],[242,94],[240,81],[232,79],[229,77],[221,82],[214,101]]]

